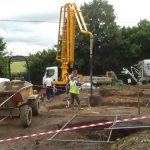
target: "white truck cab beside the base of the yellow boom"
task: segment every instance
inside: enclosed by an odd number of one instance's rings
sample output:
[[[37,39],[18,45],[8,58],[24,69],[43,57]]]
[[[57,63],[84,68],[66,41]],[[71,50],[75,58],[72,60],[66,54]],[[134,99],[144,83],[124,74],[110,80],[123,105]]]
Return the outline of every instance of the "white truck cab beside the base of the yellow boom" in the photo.
[[[46,76],[49,75],[52,81],[58,81],[58,67],[46,67],[45,74],[43,76],[43,84],[45,83]]]

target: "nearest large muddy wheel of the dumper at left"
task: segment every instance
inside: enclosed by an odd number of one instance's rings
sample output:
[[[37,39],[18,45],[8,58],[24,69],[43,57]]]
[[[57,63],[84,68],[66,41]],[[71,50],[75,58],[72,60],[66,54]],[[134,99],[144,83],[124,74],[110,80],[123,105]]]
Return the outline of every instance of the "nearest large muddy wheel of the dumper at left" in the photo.
[[[32,108],[24,105],[20,109],[20,120],[23,127],[28,127],[32,122]]]

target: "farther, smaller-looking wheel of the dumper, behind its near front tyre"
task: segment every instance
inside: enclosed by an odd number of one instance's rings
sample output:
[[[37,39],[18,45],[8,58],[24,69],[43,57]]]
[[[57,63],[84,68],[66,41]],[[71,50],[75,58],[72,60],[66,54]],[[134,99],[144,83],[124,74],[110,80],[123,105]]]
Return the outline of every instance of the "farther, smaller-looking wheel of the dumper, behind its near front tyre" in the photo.
[[[32,108],[32,112],[34,116],[39,115],[39,108],[40,108],[40,102],[39,100],[35,99],[30,103],[30,106]]]

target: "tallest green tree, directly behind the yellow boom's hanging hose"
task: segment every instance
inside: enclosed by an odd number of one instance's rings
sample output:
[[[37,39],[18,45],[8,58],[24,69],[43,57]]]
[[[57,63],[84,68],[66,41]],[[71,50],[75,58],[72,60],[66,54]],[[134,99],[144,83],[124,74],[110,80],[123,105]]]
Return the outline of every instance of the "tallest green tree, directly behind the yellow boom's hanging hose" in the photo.
[[[81,7],[87,28],[94,35],[93,73],[103,74],[112,68],[112,44],[118,36],[113,6],[106,0],[93,0]],[[79,71],[89,74],[89,39],[77,36],[76,64]]]

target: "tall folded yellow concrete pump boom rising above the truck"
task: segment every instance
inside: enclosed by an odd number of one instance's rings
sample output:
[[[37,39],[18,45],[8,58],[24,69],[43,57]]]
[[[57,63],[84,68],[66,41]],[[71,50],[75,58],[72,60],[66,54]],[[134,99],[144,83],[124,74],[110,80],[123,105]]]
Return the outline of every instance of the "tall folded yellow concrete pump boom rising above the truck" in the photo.
[[[80,9],[74,3],[67,3],[60,9],[58,48],[56,59],[61,62],[61,79],[56,85],[66,84],[68,68],[74,65],[75,28],[76,22],[80,32],[90,37],[90,54],[93,49],[93,34],[87,30]]]

